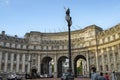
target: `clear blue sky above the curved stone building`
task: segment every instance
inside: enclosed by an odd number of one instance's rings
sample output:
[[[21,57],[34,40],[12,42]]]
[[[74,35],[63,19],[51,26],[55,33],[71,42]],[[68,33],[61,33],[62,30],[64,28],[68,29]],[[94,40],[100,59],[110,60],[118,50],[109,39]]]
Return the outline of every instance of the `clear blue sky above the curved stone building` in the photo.
[[[0,0],[0,32],[24,37],[30,31],[67,31],[68,7],[71,30],[92,24],[108,29],[120,23],[120,0]]]

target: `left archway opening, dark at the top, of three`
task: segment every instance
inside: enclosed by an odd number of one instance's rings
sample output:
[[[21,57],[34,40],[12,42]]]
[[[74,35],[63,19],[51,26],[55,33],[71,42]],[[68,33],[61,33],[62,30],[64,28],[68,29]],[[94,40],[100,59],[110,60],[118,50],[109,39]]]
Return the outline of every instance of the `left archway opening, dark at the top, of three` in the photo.
[[[41,62],[41,74],[45,75],[46,77],[50,75],[50,61],[52,60],[51,57],[46,56],[42,59]]]

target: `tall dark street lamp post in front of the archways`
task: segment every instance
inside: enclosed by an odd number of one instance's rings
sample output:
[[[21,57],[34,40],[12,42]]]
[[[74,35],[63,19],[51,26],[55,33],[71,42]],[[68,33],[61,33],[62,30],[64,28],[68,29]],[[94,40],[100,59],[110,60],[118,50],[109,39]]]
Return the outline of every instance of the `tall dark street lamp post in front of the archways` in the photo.
[[[70,27],[72,25],[72,18],[70,17],[70,9],[68,8],[66,10],[66,16],[65,19],[68,23],[68,58],[69,58],[69,69],[68,69],[68,80],[74,80],[74,77],[72,75],[72,64],[71,64],[71,34],[70,34]]]

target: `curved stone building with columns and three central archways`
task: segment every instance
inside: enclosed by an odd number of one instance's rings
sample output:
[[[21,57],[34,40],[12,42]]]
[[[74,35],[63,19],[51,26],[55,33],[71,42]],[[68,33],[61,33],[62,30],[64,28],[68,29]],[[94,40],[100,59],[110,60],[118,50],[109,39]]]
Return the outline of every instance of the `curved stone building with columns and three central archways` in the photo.
[[[107,30],[96,25],[71,31],[72,70],[77,76],[77,61],[84,62],[82,74],[120,72],[120,24]],[[36,71],[60,77],[68,58],[68,32],[31,31],[19,38],[0,33],[0,73],[20,74]],[[66,64],[67,65],[67,61]]]

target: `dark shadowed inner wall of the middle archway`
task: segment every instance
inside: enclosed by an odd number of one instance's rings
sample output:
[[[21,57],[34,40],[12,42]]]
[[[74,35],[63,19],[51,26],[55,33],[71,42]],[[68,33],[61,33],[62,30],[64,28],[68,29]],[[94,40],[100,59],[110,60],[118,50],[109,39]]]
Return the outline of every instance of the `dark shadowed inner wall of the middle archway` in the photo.
[[[68,57],[66,57],[66,56],[61,56],[58,59],[58,62],[57,62],[57,72],[58,72],[57,77],[61,77],[62,73],[65,72],[63,64],[66,62],[66,59],[68,59]]]

